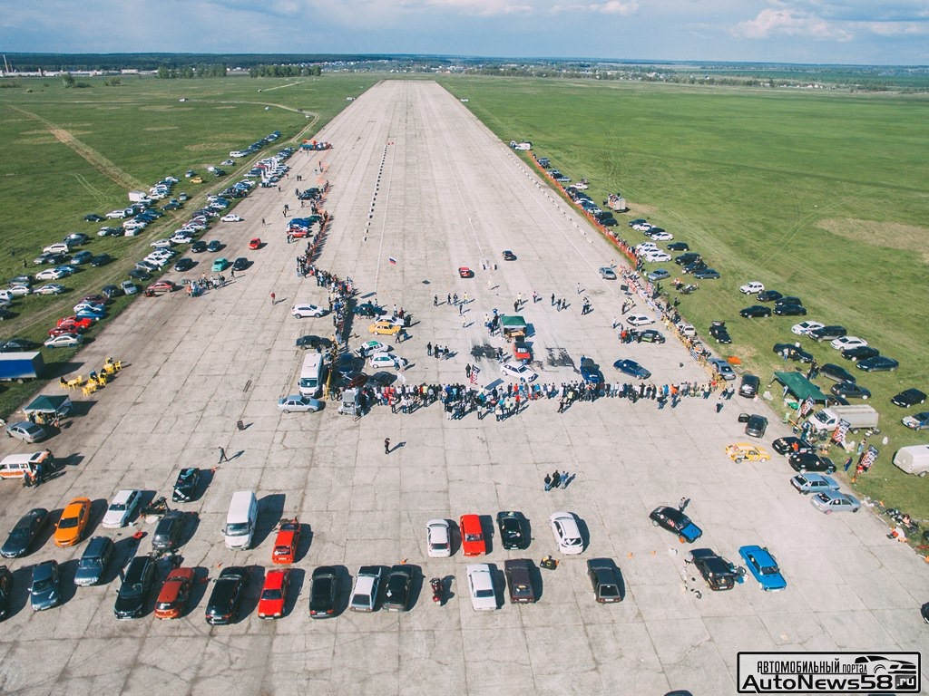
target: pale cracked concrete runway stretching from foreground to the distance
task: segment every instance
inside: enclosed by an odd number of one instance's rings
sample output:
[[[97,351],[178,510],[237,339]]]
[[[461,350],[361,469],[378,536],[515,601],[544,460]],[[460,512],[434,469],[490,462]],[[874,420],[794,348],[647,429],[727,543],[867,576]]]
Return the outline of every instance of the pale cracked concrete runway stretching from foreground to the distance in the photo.
[[[196,513],[181,555],[201,577],[229,565],[255,566],[242,618],[206,625],[209,586],[202,583],[180,619],[158,621],[149,609],[141,619],[117,621],[119,579],[69,586],[83,545],[55,548],[48,532],[30,556],[6,561],[16,590],[0,639],[0,691],[613,694],[635,685],[648,694],[729,694],[738,651],[929,647],[919,615],[929,599],[926,569],[909,548],[886,538],[883,522],[868,510],[827,517],[813,509],[793,490],[793,471],[778,455],[764,463],[726,458],[726,445],[747,440],[740,411],[771,420],[765,446],[789,434],[763,401],[735,396],[717,411],[715,398],[661,409],[651,400],[601,398],[558,413],[556,400],[535,400],[503,421],[446,419],[438,404],[412,414],[374,406],[358,420],[338,415],[334,402],[316,414],[281,414],[276,400],[295,393],[304,356],[294,340],[333,329],[330,316],[291,316],[297,302],[325,306],[326,293],[312,277],[294,273],[306,244],[287,243],[282,207],[299,214],[294,186],[326,181],[333,222],[315,263],[351,277],[360,301],[396,304],[412,315],[410,338],[392,345],[410,361],[410,383],[466,383],[467,364],[479,367],[478,385],[499,379],[484,348],[510,348],[488,335],[484,316],[494,309],[510,314],[520,293],[540,381],[580,380],[582,355],[612,382],[630,380],[612,367],[623,357],[647,367],[656,385],[710,379],[670,334],[663,344],[620,344],[612,323],[626,299],[622,281],[596,271],[620,264],[619,254],[437,84],[378,84],[319,137],[334,148],[294,155],[281,192],[256,190],[235,209],[244,222],[210,233],[226,244],[224,255],[254,262],[247,271],[201,297],[140,298],[77,355],[73,374],[99,368],[106,356],[124,368],[78,400],[81,415],[46,445],[69,458],[64,474],[37,489],[0,483],[4,534],[27,509],[60,511],[73,497],[88,496],[91,534],[113,535],[127,562],[150,550],[152,525],[98,529],[112,494],[139,488],[169,496],[179,469],[216,467],[198,499],[177,504]],[[294,184],[296,174],[305,184]],[[248,251],[255,236],[267,244]],[[504,261],[504,250],[516,260]],[[474,277],[460,277],[460,266]],[[465,292],[463,320],[445,300]],[[568,308],[557,310],[553,294]],[[582,316],[583,298],[593,311]],[[640,302],[634,312],[648,308]],[[372,338],[369,323],[356,319],[353,346]],[[448,346],[449,357],[429,356],[427,342]],[[239,420],[244,430],[236,428]],[[385,438],[393,446],[388,455]],[[36,448],[11,440],[0,446],[2,455]],[[217,465],[220,446],[230,460]],[[556,469],[576,476],[566,489],[546,493],[543,478]],[[233,552],[220,528],[230,496],[243,489],[259,498],[256,543]],[[715,593],[699,576],[692,579],[687,545],[648,520],[651,509],[676,506],[682,497],[704,530],[696,546],[735,562],[743,545],[767,547],[786,590],[766,593],[750,579]],[[504,509],[526,514],[533,541],[527,551],[504,551],[491,539],[486,561],[497,572],[500,609],[474,612],[464,567],[476,561],[461,551],[428,559],[425,523],[468,512],[490,520]],[[556,510],[582,521],[582,555],[556,553],[547,528]],[[295,563],[288,613],[260,621],[255,605],[273,528],[294,515],[311,534],[305,531]],[[490,532],[491,524],[484,528]],[[136,544],[137,529],[147,535]],[[538,563],[545,554],[560,563],[541,571],[539,601],[509,604],[504,560]],[[621,603],[594,602],[584,563],[595,557],[610,557],[622,570]],[[47,558],[64,564],[65,601],[33,613],[30,568]],[[401,561],[421,571],[410,612],[309,618],[308,579],[316,566],[355,574],[362,564]],[[160,564],[164,578],[169,561]],[[431,601],[434,575],[450,578],[452,596],[442,606]]]

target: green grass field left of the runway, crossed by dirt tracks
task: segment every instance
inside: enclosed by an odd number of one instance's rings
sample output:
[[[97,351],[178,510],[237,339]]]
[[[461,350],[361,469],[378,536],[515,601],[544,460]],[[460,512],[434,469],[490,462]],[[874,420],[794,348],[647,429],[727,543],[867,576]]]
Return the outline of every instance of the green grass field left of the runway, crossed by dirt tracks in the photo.
[[[16,335],[41,342],[55,319],[72,314],[77,299],[125,279],[132,264],[150,251],[151,239],[189,217],[184,210],[167,213],[137,238],[98,238],[103,223],[85,223],[86,213],[124,208],[127,191],[148,190],[169,174],[181,179],[177,190],[193,197],[187,208],[195,209],[208,193],[237,181],[246,161],[225,167],[229,176],[222,179],[206,174],[207,165],[218,165],[229,150],[245,148],[275,130],[281,131],[281,139],[266,151],[288,141],[299,144],[342,110],[347,96],[360,94],[375,79],[124,77],[119,86],[106,86],[101,78],[85,80],[87,87],[65,89],[60,80],[49,78],[0,89],[0,277],[34,274],[41,266],[33,265],[33,258],[71,232],[92,237],[88,251],[116,259],[101,268],[85,265],[62,281],[71,289],[64,295],[18,299],[13,305],[17,316],[0,324],[0,339]],[[204,183],[186,181],[183,175],[189,169],[203,174]],[[127,303],[121,298],[112,313]],[[46,364],[67,360],[72,353],[45,351]],[[55,369],[52,365],[51,376]],[[0,387],[0,415],[7,418],[36,388],[30,383]]]

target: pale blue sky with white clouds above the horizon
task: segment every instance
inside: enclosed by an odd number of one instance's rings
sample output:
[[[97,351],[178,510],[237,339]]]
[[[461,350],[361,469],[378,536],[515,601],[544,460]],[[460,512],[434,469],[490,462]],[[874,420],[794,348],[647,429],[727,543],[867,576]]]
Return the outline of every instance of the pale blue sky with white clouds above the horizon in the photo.
[[[929,64],[929,0],[2,0],[0,50]]]

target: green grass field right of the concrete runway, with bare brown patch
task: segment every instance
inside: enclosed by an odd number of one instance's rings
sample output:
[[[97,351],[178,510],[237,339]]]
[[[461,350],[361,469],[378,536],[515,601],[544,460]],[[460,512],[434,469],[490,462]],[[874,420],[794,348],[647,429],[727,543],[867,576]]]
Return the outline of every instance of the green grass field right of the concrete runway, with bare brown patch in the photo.
[[[733,344],[722,354],[738,356],[763,384],[784,369],[771,346],[795,341],[790,327],[801,319],[740,318],[752,301],[737,289],[748,280],[800,296],[807,318],[842,324],[898,359],[896,372],[867,374],[828,343],[802,341],[820,364],[852,368],[873,393],[867,403],[881,412],[883,434],[871,442],[881,455],[858,492],[929,519],[929,481],[891,463],[898,447],[929,442],[926,432],[899,422],[929,405],[904,410],[889,401],[908,387],[929,392],[929,310],[922,299],[929,99],[591,81],[442,82],[468,98],[468,108],[504,142],[530,140],[538,156],[572,179],[589,178],[594,200],[621,191],[632,206],[618,216],[621,225],[647,217],[700,251],[723,277],[681,296],[680,310],[702,335],[713,319],[725,319]],[[628,227],[616,229],[634,243],[645,240]],[[679,275],[674,264],[661,265]],[[826,389],[832,383],[819,381]],[[844,461],[841,452],[834,458]]]

